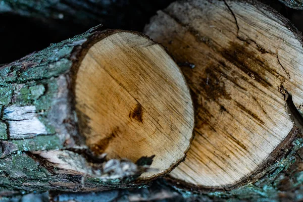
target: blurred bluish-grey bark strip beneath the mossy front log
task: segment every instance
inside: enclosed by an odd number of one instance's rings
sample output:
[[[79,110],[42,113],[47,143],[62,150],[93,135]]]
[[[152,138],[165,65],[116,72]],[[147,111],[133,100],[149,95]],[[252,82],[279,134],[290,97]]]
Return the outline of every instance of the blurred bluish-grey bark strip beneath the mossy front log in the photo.
[[[161,184],[153,184],[147,188],[132,188],[132,189],[115,189],[103,192],[87,192],[87,193],[72,193],[72,192],[44,192],[30,193],[23,196],[2,197],[1,201],[5,202],[108,202],[108,201],[190,201],[185,199],[176,191],[167,189]]]

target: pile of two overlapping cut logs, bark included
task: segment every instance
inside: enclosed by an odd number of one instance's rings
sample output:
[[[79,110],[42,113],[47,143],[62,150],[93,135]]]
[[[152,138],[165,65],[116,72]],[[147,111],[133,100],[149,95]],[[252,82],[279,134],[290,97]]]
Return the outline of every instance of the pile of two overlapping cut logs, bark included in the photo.
[[[0,194],[302,199],[301,32],[257,1],[188,0],[144,34],[97,26],[0,67]]]

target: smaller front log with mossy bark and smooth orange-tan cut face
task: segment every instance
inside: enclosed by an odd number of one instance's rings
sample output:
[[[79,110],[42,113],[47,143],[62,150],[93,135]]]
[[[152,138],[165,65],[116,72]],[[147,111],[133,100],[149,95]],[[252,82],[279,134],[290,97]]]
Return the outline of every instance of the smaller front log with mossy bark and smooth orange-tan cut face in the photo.
[[[140,33],[95,27],[2,66],[0,75],[7,189],[148,183],[189,148],[185,79],[165,49]]]

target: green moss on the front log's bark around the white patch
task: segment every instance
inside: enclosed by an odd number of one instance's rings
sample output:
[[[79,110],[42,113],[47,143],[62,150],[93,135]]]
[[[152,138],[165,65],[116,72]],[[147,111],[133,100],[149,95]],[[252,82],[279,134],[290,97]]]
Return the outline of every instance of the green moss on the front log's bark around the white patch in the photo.
[[[13,4],[12,1],[9,3]],[[19,3],[22,4],[21,1]],[[54,134],[12,140],[20,151],[62,148],[55,127],[48,120],[48,112],[58,95],[56,77],[68,72],[72,66],[70,58],[75,46],[73,43],[81,44],[77,41],[84,42],[83,39],[87,36],[89,33],[51,44],[36,54],[0,69],[0,105],[34,105],[37,117],[44,124],[47,133]],[[0,122],[0,139],[7,139],[6,127],[5,123]]]

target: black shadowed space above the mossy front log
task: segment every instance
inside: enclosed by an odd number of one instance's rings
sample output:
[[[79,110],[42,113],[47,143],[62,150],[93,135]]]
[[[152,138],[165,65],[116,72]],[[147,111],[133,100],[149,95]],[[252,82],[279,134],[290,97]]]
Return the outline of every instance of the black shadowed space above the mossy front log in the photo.
[[[36,0],[42,1],[47,2]],[[103,24],[107,28],[142,32],[144,25],[156,11],[166,8],[173,2],[173,0],[60,1],[69,8],[61,9],[60,6],[56,6],[53,8],[54,11],[52,7],[46,11],[38,11],[38,6],[34,6],[36,7],[34,9],[24,8],[30,17],[13,12],[0,13],[0,64],[20,59],[47,47],[50,43],[81,34],[98,24]],[[87,4],[89,2],[94,4]],[[18,9],[20,7],[22,9],[22,6],[18,6]],[[61,11],[62,19],[58,18],[58,11]],[[77,11],[77,19],[73,11]],[[41,18],[43,15],[51,17]]]

